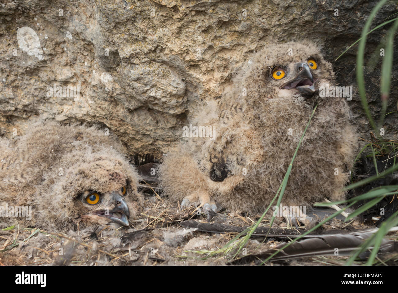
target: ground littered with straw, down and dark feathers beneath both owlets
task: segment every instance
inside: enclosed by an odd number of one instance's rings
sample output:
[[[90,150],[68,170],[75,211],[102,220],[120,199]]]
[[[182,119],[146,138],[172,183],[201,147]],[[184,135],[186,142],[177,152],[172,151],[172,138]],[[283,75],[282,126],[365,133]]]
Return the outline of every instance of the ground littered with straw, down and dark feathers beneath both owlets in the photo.
[[[384,158],[378,158],[382,161]],[[370,176],[374,170],[364,157],[359,177]],[[380,166],[381,169],[385,169]],[[395,177],[394,177],[395,176]],[[365,185],[362,190],[351,191],[350,196],[361,194],[364,190],[395,183],[396,175]],[[388,182],[387,182],[388,181]],[[261,216],[243,214],[238,211],[222,210],[210,215],[198,212],[195,207],[180,210],[180,206],[169,203],[167,198],[155,188],[148,188],[145,181],[142,192],[145,195],[145,209],[138,219],[131,219],[129,227],[98,226],[94,230],[69,231],[66,234],[49,233],[34,227],[21,227],[18,222],[0,222],[0,265],[250,265],[260,264],[275,248],[283,246],[291,239],[302,235],[335,210],[318,209],[316,222],[301,224],[297,228],[286,218],[278,217],[269,229],[271,214],[266,215],[244,248],[235,255],[236,250],[224,249],[239,233],[254,224]],[[396,208],[394,197],[386,199],[388,208]],[[394,204],[392,204],[394,203]],[[378,207],[377,207],[378,208]],[[307,214],[311,215],[310,211]],[[319,216],[320,215],[320,216]],[[344,222],[344,218],[334,218],[316,231],[308,234],[304,241],[308,247],[319,246],[316,240],[322,239],[330,245],[339,234],[349,239],[353,234],[367,233],[384,218],[368,210],[354,220]],[[373,219],[372,219],[373,217]],[[365,224],[364,224],[365,223]],[[353,233],[355,232],[355,233]],[[351,234],[350,234],[351,233]],[[324,237],[312,239],[314,235]],[[267,236],[267,237],[265,237]],[[383,242],[384,250],[378,254],[382,264],[396,265],[398,262],[398,232],[390,232]],[[329,239],[329,240],[328,240]],[[351,241],[351,240],[347,240]],[[354,239],[353,243],[356,240]],[[236,241],[235,241],[236,242]],[[233,243],[232,243],[233,244]],[[357,244],[355,244],[357,245]],[[300,249],[305,243],[300,242]],[[339,245],[341,247],[341,245]],[[294,246],[293,246],[294,248]],[[333,250],[333,247],[332,247]],[[284,250],[289,254],[288,250]],[[284,258],[265,262],[265,265],[343,265],[347,256],[334,254],[328,256],[307,256],[306,258]],[[355,261],[356,264],[363,264]]]

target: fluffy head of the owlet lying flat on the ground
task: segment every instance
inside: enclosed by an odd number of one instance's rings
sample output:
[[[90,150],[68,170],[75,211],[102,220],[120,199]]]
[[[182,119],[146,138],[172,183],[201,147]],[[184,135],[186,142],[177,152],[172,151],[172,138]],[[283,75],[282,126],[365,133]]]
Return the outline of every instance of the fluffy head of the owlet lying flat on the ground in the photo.
[[[62,210],[58,215],[54,210],[54,216],[65,221],[64,226],[128,226],[129,218],[139,214],[143,199],[137,191],[138,175],[123,157],[109,151],[86,153],[53,185],[53,205]]]

